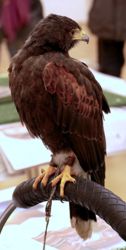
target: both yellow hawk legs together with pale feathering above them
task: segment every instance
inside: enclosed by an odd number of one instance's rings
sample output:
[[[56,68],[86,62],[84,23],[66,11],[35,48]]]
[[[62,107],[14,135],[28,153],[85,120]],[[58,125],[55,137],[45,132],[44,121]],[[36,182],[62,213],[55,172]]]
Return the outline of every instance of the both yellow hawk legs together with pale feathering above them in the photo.
[[[36,189],[40,181],[43,186],[46,186],[50,176],[55,174],[57,168],[59,168],[60,173],[54,177],[51,183],[52,187],[54,187],[60,181],[60,196],[63,197],[66,182],[75,183],[76,181],[75,178],[72,177],[72,175],[76,175],[74,171],[76,161],[76,156],[72,151],[54,154],[48,168],[35,179],[33,188]]]

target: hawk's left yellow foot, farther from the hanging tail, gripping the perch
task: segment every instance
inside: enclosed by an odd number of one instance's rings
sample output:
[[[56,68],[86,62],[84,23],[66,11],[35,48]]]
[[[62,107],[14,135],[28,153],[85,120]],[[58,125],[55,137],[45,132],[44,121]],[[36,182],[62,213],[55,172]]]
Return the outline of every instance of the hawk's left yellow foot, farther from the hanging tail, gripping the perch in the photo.
[[[42,185],[45,187],[48,179],[51,175],[53,175],[56,172],[56,168],[52,166],[48,166],[46,170],[42,170],[42,173],[36,177],[34,183],[33,183],[33,188],[37,189],[37,186],[39,182],[41,181]]]

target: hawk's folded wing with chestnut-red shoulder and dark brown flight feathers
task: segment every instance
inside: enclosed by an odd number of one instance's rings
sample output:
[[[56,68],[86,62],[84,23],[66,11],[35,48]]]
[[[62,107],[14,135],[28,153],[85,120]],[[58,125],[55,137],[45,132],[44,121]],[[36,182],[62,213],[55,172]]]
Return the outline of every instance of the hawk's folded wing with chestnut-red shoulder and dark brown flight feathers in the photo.
[[[54,120],[68,136],[82,168],[103,184],[106,145],[102,109],[109,112],[109,107],[87,66],[74,65],[70,70],[67,65],[49,62],[43,71],[44,86],[52,95]]]

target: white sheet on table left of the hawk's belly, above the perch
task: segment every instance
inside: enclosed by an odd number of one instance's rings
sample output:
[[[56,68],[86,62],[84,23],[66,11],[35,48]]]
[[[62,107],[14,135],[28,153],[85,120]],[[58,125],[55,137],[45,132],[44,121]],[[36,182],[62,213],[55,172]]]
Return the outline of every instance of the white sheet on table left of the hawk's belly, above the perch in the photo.
[[[31,138],[20,123],[0,131],[0,152],[10,173],[46,164],[51,157],[42,141]]]

